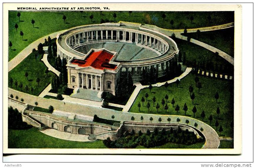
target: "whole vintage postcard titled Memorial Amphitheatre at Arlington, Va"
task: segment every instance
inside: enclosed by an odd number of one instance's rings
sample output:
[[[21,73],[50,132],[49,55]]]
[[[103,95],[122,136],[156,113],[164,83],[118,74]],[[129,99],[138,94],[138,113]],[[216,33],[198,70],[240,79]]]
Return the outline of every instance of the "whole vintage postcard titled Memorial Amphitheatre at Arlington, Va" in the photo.
[[[3,153],[241,153],[241,5],[3,10]]]

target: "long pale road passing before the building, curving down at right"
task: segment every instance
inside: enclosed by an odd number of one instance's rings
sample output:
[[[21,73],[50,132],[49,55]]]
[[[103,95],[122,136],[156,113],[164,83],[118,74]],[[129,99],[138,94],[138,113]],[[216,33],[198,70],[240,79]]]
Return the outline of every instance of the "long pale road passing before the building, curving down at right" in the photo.
[[[171,118],[171,123],[177,123],[176,119],[179,117],[181,120],[181,124],[185,124],[186,119],[189,120],[189,125],[193,126],[195,122],[197,122],[198,127],[197,128],[203,128],[204,131],[202,133],[204,134],[206,138],[206,143],[204,148],[218,148],[220,140],[219,136],[216,133],[216,131],[207,125],[206,123],[199,121],[197,119],[193,119],[191,117],[187,116],[177,116],[177,115],[159,115],[159,114],[141,114],[141,113],[129,113],[129,112],[119,112],[111,109],[105,109],[105,108],[98,108],[98,107],[91,107],[84,104],[78,104],[78,103],[71,103],[66,102],[64,104],[63,101],[55,100],[55,99],[45,99],[42,97],[37,97],[33,95],[29,95],[27,93],[19,92],[17,90],[13,90],[11,88],[8,88],[9,95],[13,94],[14,96],[19,96],[20,98],[24,99],[24,103],[34,105],[34,102],[38,102],[39,107],[48,108],[50,105],[54,107],[55,110],[59,111],[68,111],[71,113],[77,113],[77,114],[84,114],[89,116],[94,116],[96,114],[100,118],[104,119],[110,119],[112,120],[111,116],[115,116],[115,120],[117,121],[130,121],[131,117],[134,116],[135,122],[140,122],[140,117],[143,116],[145,122],[149,122],[149,118],[153,118],[153,122],[158,123],[159,117],[162,118],[162,123],[169,123],[167,121],[167,118]]]

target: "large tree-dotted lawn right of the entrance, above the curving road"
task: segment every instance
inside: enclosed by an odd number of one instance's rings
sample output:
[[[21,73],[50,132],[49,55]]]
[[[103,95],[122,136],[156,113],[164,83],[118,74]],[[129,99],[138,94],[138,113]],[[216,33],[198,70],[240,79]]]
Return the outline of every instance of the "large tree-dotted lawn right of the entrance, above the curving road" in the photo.
[[[199,76],[199,80],[202,83],[202,87],[203,87],[200,89],[200,94],[198,94],[198,88],[196,88],[195,86],[195,75],[192,73],[189,73],[186,77],[181,79],[181,83],[178,88],[174,83],[172,84],[172,86],[169,86],[167,89],[164,86],[153,87],[151,90],[151,93],[148,88],[144,88],[139,92],[134,103],[132,104],[132,107],[129,109],[129,112],[184,115],[184,111],[182,109],[183,109],[184,103],[187,103],[187,106],[188,106],[187,116],[190,116],[190,117],[194,116],[192,112],[192,108],[196,106],[197,112],[195,113],[195,118],[202,121],[202,118],[200,117],[200,115],[202,110],[204,110],[206,114],[204,122],[207,124],[210,124],[208,117],[212,114],[213,121],[211,123],[211,126],[216,130],[216,127],[214,126],[214,124],[217,119],[216,109],[219,106],[220,118],[218,119],[218,122],[220,123],[219,127],[222,125],[224,129],[222,134],[225,136],[233,137],[233,131],[230,128],[230,123],[233,120],[233,116],[234,116],[233,80],[221,80],[221,79],[214,79],[214,78],[207,78],[207,77],[200,77],[200,76]],[[188,90],[189,85],[192,85],[194,88],[194,93],[195,93],[194,105],[192,104],[192,100],[190,99],[190,93]],[[216,103],[216,99],[214,98],[216,92],[218,92],[220,95],[218,104]],[[149,97],[147,98],[148,102],[150,103],[149,112],[146,107],[147,102],[146,101],[144,102],[144,106],[142,106],[142,102],[141,102],[142,96],[144,96],[145,98],[146,93],[149,94]],[[167,112],[165,112],[161,104],[162,98],[164,98],[165,95],[169,96],[169,99],[167,101],[167,105],[169,108]],[[152,98],[154,96],[156,97],[155,106],[157,102],[160,105],[158,113],[156,108],[153,107]],[[172,107],[172,104],[171,104],[172,98],[174,98],[175,100],[174,107]],[[139,102],[141,103],[140,112],[139,112],[139,108],[137,107]],[[178,113],[174,110],[177,104],[180,107],[180,110]],[[217,133],[219,133],[218,130],[217,130]]]

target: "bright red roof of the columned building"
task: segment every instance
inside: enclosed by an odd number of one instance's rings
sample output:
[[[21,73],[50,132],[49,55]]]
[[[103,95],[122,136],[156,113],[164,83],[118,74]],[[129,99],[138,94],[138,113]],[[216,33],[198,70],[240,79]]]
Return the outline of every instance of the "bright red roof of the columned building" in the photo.
[[[106,50],[93,51],[91,52],[84,60],[73,59],[70,63],[76,64],[81,67],[92,66],[96,69],[112,69],[117,68],[114,64],[109,64],[109,61],[112,59],[113,54],[107,52]]]

